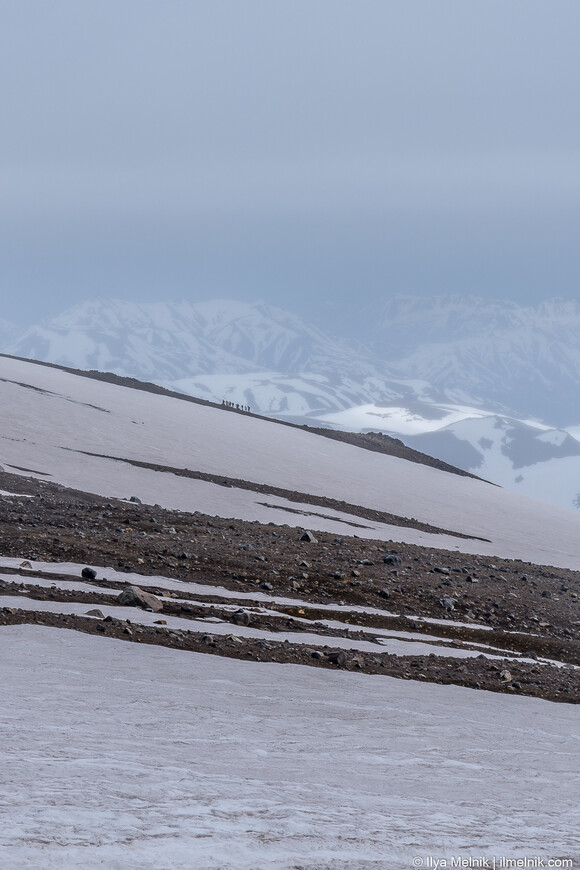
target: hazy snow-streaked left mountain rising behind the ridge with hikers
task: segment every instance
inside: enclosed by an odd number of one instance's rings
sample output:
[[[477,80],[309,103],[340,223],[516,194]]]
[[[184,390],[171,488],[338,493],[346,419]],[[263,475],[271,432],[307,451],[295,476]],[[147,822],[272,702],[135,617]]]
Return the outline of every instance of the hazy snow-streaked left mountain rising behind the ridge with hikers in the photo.
[[[261,413],[304,416],[377,397],[430,394],[428,384],[392,375],[361,345],[331,338],[282,309],[231,300],[86,302],[32,326],[2,350],[226,398]]]

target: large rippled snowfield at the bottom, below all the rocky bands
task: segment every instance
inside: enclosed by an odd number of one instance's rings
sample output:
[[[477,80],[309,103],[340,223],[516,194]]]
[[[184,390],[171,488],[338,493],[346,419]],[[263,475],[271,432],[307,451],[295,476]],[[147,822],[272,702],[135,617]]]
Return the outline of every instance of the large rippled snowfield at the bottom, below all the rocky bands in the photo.
[[[576,707],[4,631],[10,870],[580,860]]]

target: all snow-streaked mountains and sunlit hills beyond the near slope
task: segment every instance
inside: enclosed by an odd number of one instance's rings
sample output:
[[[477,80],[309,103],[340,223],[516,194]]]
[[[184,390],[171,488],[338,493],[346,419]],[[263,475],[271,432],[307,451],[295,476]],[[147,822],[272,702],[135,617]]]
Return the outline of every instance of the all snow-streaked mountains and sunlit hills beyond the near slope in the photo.
[[[231,300],[95,300],[17,337],[0,323],[0,342],[15,356],[294,422],[389,432],[504,486],[577,506],[580,303],[394,296],[380,308],[335,310],[328,324],[302,314]]]

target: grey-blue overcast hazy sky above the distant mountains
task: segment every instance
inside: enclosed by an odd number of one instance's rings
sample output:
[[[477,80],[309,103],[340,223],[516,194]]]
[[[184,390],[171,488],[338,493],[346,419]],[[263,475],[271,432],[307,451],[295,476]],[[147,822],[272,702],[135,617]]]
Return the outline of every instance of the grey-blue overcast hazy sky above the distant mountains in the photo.
[[[0,0],[0,315],[578,296],[579,33],[578,0]]]

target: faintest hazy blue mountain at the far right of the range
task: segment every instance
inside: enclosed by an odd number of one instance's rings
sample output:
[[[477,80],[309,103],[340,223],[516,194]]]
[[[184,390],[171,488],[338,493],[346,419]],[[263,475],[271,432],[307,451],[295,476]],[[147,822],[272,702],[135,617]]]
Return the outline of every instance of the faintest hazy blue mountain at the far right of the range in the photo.
[[[535,306],[478,297],[394,297],[372,347],[395,374],[557,425],[576,422],[580,301]]]

